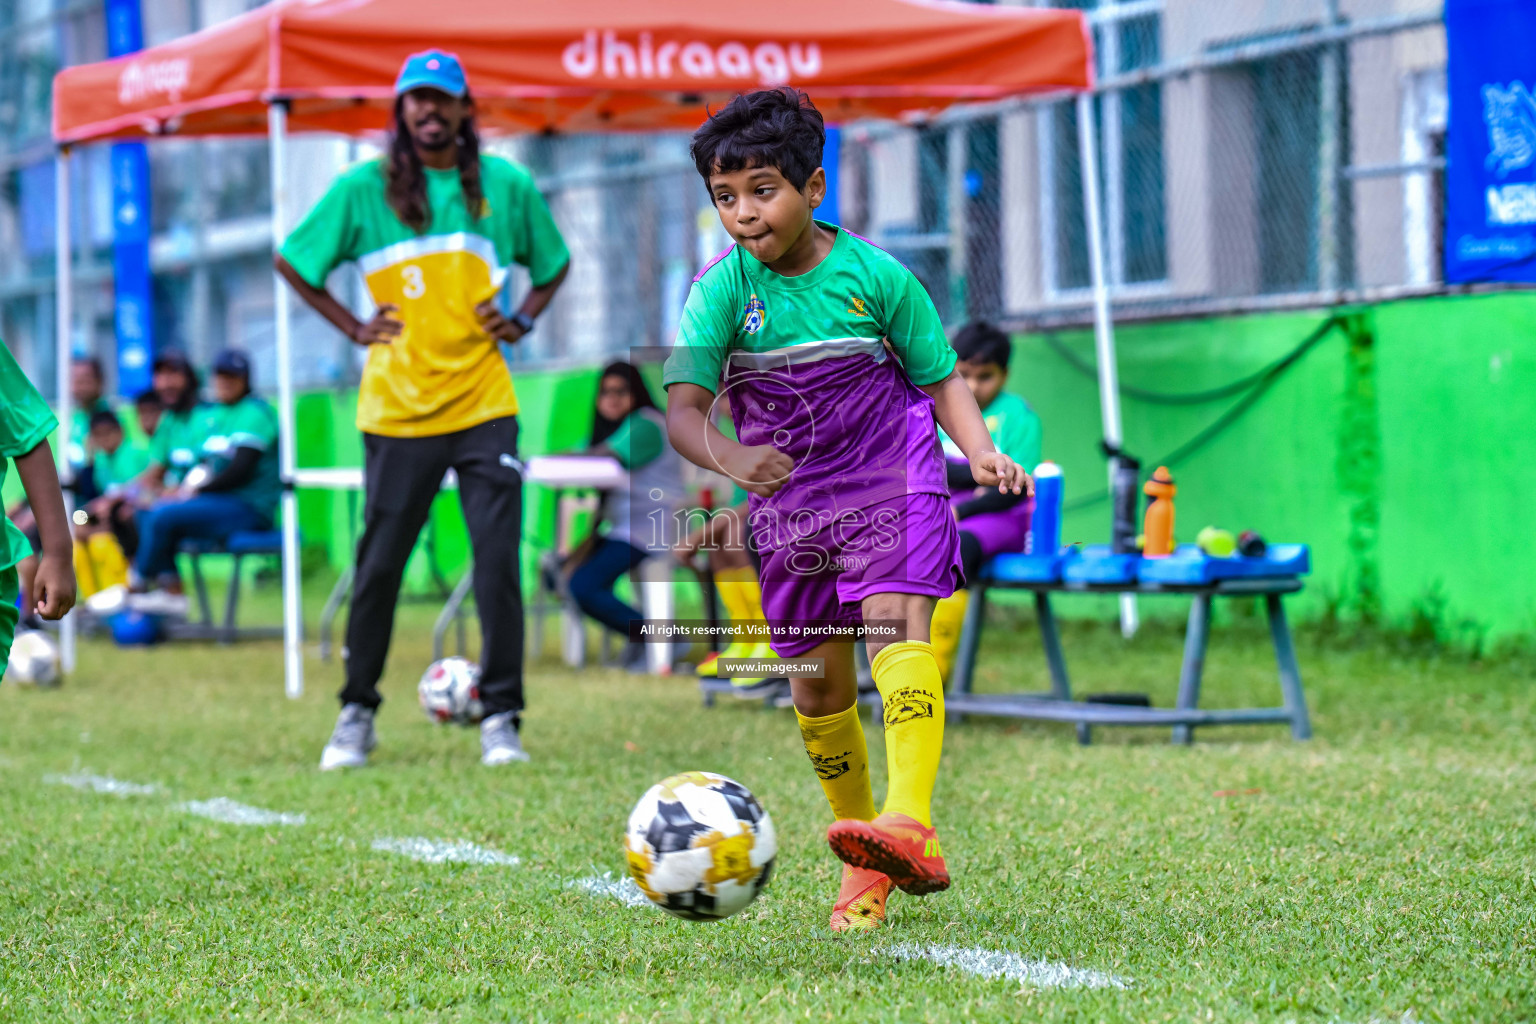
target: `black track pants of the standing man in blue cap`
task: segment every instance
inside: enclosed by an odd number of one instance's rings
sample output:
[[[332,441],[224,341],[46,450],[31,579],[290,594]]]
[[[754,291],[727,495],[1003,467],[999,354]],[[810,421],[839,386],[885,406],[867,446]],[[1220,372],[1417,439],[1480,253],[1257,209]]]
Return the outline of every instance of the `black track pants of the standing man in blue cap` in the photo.
[[[522,473],[516,418],[436,438],[362,434],[367,493],[358,540],[347,685],[343,703],[379,705],[395,602],[432,499],[452,467],[475,547],[475,603],[481,617],[481,699],[487,714],[522,711]]]

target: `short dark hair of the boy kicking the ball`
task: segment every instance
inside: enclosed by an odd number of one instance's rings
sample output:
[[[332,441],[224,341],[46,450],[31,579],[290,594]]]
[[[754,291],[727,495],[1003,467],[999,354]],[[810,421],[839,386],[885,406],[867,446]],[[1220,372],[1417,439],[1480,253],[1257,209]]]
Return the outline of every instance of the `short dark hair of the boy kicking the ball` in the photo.
[[[693,134],[688,152],[708,187],[711,173],[776,167],[803,189],[822,166],[826,123],[799,89],[763,89],[739,95]]]

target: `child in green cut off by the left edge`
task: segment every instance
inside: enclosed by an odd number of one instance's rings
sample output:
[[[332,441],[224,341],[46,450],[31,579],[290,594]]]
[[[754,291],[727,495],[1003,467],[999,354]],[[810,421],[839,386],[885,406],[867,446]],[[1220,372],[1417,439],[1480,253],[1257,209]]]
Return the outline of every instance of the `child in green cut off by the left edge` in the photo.
[[[26,536],[5,519],[0,530],[0,663],[11,654],[20,617],[22,562],[28,562],[25,568],[29,570],[26,596],[31,613],[63,619],[75,603],[74,543],[54,468],[54,450],[48,444],[48,434],[55,427],[58,421],[48,402],[22,373],[11,350],[0,345],[0,481],[5,479],[5,461],[11,459],[41,542],[34,560]]]

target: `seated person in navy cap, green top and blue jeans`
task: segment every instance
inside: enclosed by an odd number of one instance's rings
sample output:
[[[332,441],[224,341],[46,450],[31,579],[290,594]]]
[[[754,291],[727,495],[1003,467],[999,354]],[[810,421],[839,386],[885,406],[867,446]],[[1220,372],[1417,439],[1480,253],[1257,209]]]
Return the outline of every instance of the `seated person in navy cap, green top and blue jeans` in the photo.
[[[223,543],[230,534],[270,530],[283,485],[276,411],[250,393],[250,359],[227,350],[214,364],[218,399],[214,430],[197,447],[198,465],[175,491],[138,514],[131,605],[152,614],[186,614],[177,574],[184,540]],[[164,431],[172,421],[161,424]],[[157,438],[160,433],[157,433]],[[154,467],[151,467],[154,468]],[[151,591],[152,586],[158,590]]]

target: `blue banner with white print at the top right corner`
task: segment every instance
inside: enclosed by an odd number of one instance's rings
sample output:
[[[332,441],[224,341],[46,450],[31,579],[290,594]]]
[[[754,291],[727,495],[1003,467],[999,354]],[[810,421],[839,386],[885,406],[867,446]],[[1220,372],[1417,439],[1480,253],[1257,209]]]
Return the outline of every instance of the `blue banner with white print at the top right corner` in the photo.
[[[1536,3],[1447,0],[1445,281],[1536,281]]]

